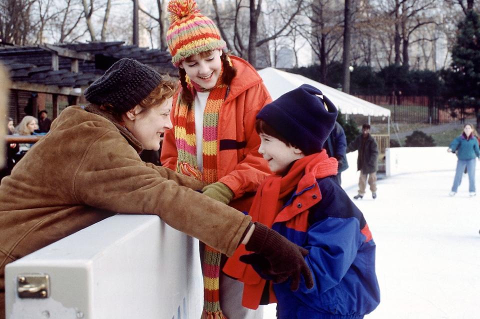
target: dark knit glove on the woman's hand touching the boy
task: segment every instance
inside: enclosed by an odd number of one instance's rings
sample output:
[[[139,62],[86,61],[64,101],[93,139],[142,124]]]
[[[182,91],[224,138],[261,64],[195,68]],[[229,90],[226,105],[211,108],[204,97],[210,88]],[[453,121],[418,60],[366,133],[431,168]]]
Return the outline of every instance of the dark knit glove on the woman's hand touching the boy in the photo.
[[[255,264],[275,283],[291,278],[290,289],[298,290],[303,275],[308,289],[313,287],[310,268],[303,259],[308,250],[289,241],[278,232],[255,222],[255,229],[245,244],[246,250],[256,252],[240,256],[242,262]]]

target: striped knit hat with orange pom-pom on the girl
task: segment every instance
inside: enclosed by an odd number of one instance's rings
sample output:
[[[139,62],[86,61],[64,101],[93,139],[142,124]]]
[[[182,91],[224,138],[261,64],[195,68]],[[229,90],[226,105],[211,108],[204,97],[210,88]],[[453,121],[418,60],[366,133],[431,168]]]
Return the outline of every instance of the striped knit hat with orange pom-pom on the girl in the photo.
[[[215,23],[200,13],[194,0],[170,0],[167,10],[166,42],[176,67],[190,55],[226,47]]]

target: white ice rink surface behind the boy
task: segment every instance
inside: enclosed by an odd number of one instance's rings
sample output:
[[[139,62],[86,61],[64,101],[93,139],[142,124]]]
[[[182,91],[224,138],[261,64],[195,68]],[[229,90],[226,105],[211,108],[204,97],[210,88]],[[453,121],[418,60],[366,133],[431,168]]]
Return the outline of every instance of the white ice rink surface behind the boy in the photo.
[[[434,158],[432,158],[434,160]],[[375,240],[381,301],[366,319],[480,318],[480,163],[477,195],[468,177],[449,197],[454,170],[401,174],[378,180],[355,204]],[[346,192],[356,194],[356,187]],[[275,318],[275,305],[264,319]]]

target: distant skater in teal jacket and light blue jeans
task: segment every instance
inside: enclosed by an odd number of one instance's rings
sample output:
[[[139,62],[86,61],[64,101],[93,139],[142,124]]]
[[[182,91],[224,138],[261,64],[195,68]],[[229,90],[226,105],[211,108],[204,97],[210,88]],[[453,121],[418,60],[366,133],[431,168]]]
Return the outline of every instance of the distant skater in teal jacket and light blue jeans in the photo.
[[[468,172],[468,191],[470,196],[475,196],[475,157],[480,160],[480,150],[478,140],[473,134],[473,126],[469,123],[463,125],[463,132],[455,137],[447,149],[448,152],[455,152],[458,157],[456,162],[455,178],[451,186],[450,196],[454,196],[461,183],[463,170]]]

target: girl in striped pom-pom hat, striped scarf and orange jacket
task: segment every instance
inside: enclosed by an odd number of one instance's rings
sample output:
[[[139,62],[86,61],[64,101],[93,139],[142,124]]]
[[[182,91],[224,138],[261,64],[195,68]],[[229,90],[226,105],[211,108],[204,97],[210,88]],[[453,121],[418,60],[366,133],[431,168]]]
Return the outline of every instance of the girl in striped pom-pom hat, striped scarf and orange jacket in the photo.
[[[271,101],[256,70],[229,54],[215,23],[193,0],[170,0],[166,41],[178,67],[180,88],[173,100],[173,128],[165,132],[164,166],[208,183],[204,194],[248,211],[253,192],[269,174],[258,153],[255,115]],[[213,221],[212,221],[213,222]],[[241,304],[244,266],[200,245],[204,318],[256,319],[262,309]],[[237,249],[245,253],[243,245]],[[227,275],[225,275],[225,273]]]

